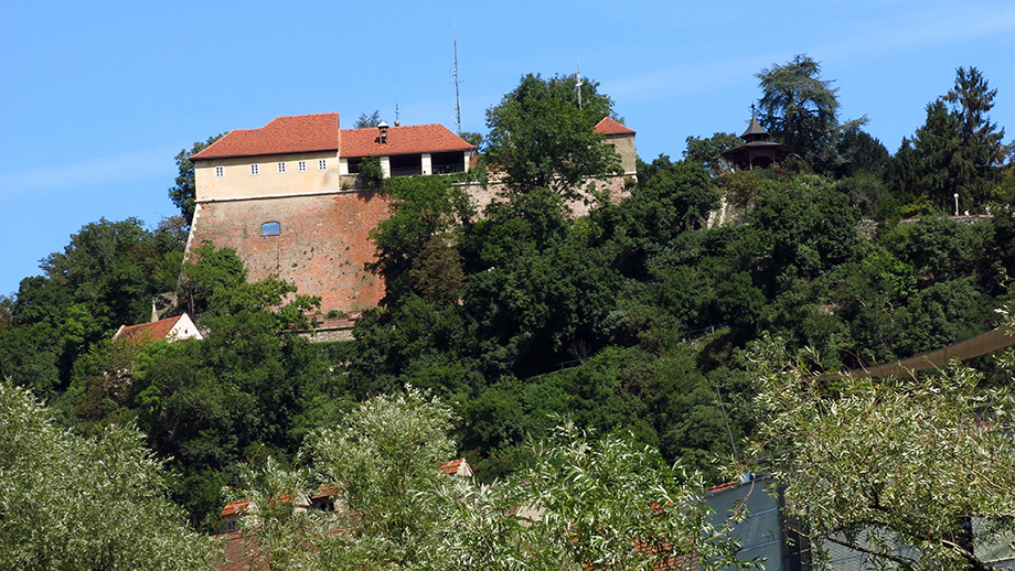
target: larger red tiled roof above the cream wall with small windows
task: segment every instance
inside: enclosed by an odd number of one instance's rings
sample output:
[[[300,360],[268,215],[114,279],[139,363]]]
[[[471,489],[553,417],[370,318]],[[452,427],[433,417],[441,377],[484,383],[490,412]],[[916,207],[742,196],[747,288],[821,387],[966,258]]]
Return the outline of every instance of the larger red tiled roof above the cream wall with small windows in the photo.
[[[333,151],[339,148],[339,114],[277,117],[260,129],[236,129],[191,160]]]

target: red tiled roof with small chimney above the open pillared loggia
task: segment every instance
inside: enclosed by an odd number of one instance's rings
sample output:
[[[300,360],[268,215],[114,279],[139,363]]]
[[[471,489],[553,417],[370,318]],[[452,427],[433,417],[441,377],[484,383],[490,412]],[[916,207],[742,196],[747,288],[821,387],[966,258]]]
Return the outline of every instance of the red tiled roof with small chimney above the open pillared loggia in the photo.
[[[424,152],[468,151],[473,149],[464,139],[438,123],[388,127],[387,142],[381,143],[376,127],[342,129],[342,157],[377,157]]]

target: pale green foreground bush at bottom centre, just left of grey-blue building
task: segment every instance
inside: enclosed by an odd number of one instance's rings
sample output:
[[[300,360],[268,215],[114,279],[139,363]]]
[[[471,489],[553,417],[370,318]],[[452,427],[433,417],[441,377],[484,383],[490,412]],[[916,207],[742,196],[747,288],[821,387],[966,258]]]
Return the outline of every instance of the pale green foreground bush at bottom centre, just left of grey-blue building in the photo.
[[[448,538],[451,561],[532,570],[681,569],[691,560],[701,569],[724,569],[738,562],[728,529],[707,521],[696,475],[665,464],[630,437],[594,435],[565,422],[533,443],[532,463],[514,477],[460,486],[460,528]]]

